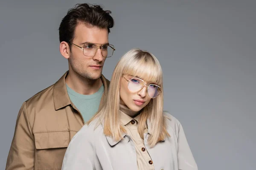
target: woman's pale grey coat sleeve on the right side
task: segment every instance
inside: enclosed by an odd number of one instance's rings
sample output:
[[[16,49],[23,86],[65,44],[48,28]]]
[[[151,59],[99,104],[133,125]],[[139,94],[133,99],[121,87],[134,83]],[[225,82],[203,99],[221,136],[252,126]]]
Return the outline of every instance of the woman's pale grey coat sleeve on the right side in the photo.
[[[179,170],[198,170],[198,166],[190,150],[182,125],[179,123],[178,142],[178,167]]]

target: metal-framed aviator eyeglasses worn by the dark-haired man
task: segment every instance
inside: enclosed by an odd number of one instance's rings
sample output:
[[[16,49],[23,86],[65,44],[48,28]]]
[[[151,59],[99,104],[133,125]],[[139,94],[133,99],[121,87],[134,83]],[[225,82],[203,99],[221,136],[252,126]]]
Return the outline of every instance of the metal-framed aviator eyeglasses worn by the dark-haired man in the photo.
[[[100,48],[103,57],[111,57],[116,50],[114,45],[111,44],[96,44],[96,43],[85,43],[83,47],[76,45],[71,42],[71,44],[83,49],[83,54],[88,57],[95,56],[98,48]]]

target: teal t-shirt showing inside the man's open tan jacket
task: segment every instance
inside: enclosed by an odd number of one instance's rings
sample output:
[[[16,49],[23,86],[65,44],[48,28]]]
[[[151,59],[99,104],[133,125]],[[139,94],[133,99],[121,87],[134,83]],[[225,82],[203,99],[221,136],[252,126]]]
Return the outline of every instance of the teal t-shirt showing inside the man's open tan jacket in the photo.
[[[68,87],[67,84],[66,87],[71,102],[78,108],[84,118],[84,122],[87,122],[99,109],[99,103],[104,92],[104,85],[102,84],[99,91],[91,95],[79,94]]]

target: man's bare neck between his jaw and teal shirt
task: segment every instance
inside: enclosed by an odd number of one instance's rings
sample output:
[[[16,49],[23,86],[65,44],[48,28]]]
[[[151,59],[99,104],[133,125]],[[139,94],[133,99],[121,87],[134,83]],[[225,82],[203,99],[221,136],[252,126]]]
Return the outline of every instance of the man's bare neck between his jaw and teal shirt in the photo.
[[[84,95],[94,94],[102,86],[101,78],[95,80],[86,79],[73,71],[69,71],[65,81],[71,89]]]

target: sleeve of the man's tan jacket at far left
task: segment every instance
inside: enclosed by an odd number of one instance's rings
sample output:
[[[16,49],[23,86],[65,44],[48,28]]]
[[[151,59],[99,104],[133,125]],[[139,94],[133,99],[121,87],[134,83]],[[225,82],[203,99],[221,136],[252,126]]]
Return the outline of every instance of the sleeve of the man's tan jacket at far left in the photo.
[[[24,102],[17,116],[15,132],[6,162],[6,170],[34,169],[34,156],[35,139],[27,116],[26,102]]]

